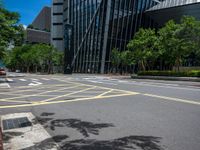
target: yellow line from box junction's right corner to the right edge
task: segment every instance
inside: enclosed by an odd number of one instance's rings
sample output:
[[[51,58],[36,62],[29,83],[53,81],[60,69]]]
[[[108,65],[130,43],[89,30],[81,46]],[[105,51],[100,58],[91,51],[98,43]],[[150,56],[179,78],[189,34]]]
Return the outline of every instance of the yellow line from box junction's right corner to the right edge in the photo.
[[[163,99],[167,101],[175,101],[175,102],[181,102],[181,103],[187,103],[187,104],[200,105],[200,102],[193,101],[193,100],[186,100],[186,99],[173,98],[173,97],[167,97],[167,96],[159,96],[159,95],[153,95],[153,94],[142,94],[142,95],[159,98],[159,99]]]

